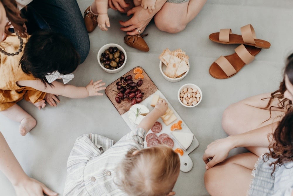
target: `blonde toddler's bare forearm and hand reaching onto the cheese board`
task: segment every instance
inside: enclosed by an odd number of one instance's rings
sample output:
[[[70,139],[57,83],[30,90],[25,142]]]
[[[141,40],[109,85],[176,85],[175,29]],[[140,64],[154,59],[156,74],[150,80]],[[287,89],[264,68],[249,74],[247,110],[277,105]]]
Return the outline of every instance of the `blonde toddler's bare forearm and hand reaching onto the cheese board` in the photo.
[[[144,130],[148,132],[156,120],[158,120],[161,115],[165,114],[167,109],[168,103],[166,103],[166,100],[159,100],[155,108],[142,119],[139,125],[137,125],[137,128],[144,128]]]

